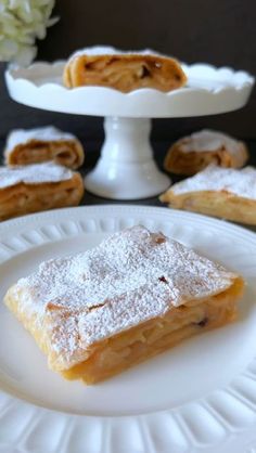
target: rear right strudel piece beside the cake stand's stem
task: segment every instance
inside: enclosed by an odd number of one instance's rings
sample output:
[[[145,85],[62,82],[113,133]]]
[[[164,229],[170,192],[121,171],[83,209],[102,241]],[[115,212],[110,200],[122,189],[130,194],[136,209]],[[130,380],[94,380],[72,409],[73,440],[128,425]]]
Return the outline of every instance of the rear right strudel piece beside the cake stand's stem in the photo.
[[[248,152],[243,142],[222,132],[204,129],[178,140],[167,152],[164,167],[176,174],[191,176],[209,164],[240,168],[247,158]]]

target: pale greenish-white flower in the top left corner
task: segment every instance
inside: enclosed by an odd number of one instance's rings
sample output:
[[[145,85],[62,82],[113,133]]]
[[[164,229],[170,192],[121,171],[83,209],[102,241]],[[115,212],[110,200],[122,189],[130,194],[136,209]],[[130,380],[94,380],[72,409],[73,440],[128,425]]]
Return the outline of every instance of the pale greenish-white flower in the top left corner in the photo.
[[[20,65],[31,63],[37,54],[36,39],[43,39],[47,27],[55,24],[50,18],[54,0],[0,1],[0,61]]]

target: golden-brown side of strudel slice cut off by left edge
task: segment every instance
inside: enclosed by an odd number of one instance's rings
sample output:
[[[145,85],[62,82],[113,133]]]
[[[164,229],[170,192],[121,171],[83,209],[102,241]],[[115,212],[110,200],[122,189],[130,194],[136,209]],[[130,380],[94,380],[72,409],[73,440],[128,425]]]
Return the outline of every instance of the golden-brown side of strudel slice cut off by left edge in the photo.
[[[20,182],[0,187],[0,220],[53,208],[77,206],[85,189],[82,178],[74,173],[59,182],[27,184]]]

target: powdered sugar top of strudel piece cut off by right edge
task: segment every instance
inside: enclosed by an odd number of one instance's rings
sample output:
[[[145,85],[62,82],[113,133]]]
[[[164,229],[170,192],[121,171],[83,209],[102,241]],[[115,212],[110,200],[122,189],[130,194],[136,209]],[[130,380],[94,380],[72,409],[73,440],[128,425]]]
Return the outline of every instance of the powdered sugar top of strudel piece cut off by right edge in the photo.
[[[174,194],[197,191],[226,191],[243,198],[256,199],[256,169],[241,170],[209,165],[192,178],[188,178],[169,189]]]

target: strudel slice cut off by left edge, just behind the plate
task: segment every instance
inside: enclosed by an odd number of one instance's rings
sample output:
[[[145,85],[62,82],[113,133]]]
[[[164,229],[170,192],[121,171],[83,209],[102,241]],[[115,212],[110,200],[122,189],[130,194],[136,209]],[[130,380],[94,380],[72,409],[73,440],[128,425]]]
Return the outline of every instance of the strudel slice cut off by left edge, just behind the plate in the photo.
[[[0,220],[76,206],[84,191],[78,172],[54,163],[0,167]]]

